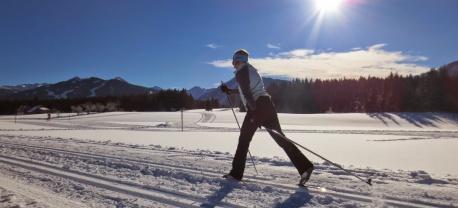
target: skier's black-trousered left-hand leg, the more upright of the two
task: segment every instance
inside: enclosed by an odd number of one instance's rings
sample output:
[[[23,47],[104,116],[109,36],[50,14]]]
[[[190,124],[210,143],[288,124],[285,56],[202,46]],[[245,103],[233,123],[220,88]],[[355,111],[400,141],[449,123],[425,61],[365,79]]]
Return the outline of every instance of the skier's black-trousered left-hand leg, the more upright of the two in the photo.
[[[247,115],[243,120],[240,130],[239,143],[232,161],[232,170],[229,173],[229,175],[237,180],[242,180],[243,178],[248,148],[250,146],[251,139],[257,130],[257,126],[251,123],[250,119],[251,118]]]

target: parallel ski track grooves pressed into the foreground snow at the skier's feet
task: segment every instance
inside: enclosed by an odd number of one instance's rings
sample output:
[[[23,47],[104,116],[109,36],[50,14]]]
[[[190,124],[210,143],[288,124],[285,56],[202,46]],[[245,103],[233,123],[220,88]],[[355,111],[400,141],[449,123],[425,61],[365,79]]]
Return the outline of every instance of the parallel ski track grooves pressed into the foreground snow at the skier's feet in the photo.
[[[61,150],[61,149],[41,147],[41,146],[19,145],[19,144],[12,144],[12,143],[8,143],[8,142],[0,142],[0,144],[8,145],[8,146],[20,147],[20,148],[27,148],[27,149],[50,151],[50,152],[54,152],[54,153],[61,153],[61,154],[66,154],[66,155],[77,156],[77,157],[80,157],[80,158],[90,158],[90,159],[99,159],[99,160],[110,159],[110,160],[120,161],[120,162],[129,162],[130,164],[147,165],[147,166],[156,167],[156,168],[159,168],[159,169],[168,169],[168,170],[186,172],[186,173],[189,173],[189,174],[198,174],[198,175],[211,177],[211,178],[220,178],[221,177],[221,173],[220,172],[212,171],[212,170],[206,170],[206,169],[205,170],[204,169],[195,169],[195,167],[188,168],[188,167],[185,167],[185,166],[159,164],[159,163],[154,163],[154,162],[151,162],[151,161],[145,161],[145,160],[139,160],[139,159],[121,158],[121,157],[115,157],[115,156],[111,156],[111,155],[100,155],[100,154],[93,154],[93,153],[81,153],[81,152],[76,152],[76,151],[71,151],[71,150]],[[109,179],[109,178],[105,178],[105,177],[98,176],[98,175],[91,175],[89,173],[84,173],[84,172],[75,171],[75,170],[63,170],[62,168],[58,168],[58,167],[55,167],[55,166],[52,166],[52,165],[42,164],[42,163],[39,163],[39,162],[30,161],[30,160],[11,158],[11,157],[7,157],[7,156],[0,156],[0,157],[6,158],[6,159],[9,159],[9,160],[19,161],[19,164],[17,164],[17,162],[16,163],[12,162],[12,161],[8,162],[8,161],[5,161],[4,159],[1,159],[2,162],[5,162],[5,163],[11,164],[11,165],[15,164],[15,165],[21,166],[21,167],[26,168],[26,169],[31,169],[33,171],[39,171],[39,172],[46,173],[46,174],[52,174],[52,175],[56,175],[56,176],[59,176],[59,177],[64,177],[64,178],[67,178],[67,179],[70,179],[70,180],[76,180],[78,182],[82,182],[82,183],[85,183],[85,184],[88,184],[88,185],[92,185],[92,186],[96,186],[96,187],[99,187],[99,188],[109,189],[109,190],[116,191],[116,192],[121,192],[121,193],[128,193],[128,194],[133,195],[133,196],[136,196],[137,194],[139,194],[142,198],[152,199],[152,200],[156,200],[158,202],[165,203],[165,204],[170,204],[170,205],[195,206],[194,203],[185,203],[185,204],[178,203],[178,204],[176,204],[175,200],[167,200],[167,199],[163,199],[163,198],[160,198],[160,197],[157,197],[157,196],[151,196],[151,195],[142,193],[142,192],[140,192],[138,190],[137,191],[135,191],[135,190],[134,191],[132,191],[132,190],[124,190],[124,189],[116,187],[116,186],[106,185],[106,184],[103,184],[103,183],[94,182],[92,180],[79,179],[78,177],[72,176],[70,174],[77,174],[77,175],[79,175],[81,177],[88,177],[88,178],[92,178],[92,179],[102,180],[102,181],[105,181],[105,182],[117,183],[117,184],[121,184],[121,185],[124,185],[124,186],[128,186],[130,188],[140,189],[142,191],[145,190],[145,187],[141,187],[140,185],[137,185],[137,184],[133,184],[133,183],[129,183],[129,182],[121,181],[121,180],[116,180],[116,179]],[[25,164],[21,164],[21,163],[26,163],[26,164],[29,164],[29,165],[25,165]],[[38,168],[36,166],[45,166],[45,167],[47,167],[49,169],[58,170],[58,171],[61,171],[61,172],[65,171],[66,173],[56,173],[54,171],[43,170],[43,169],[40,169],[40,168]],[[248,182],[241,182],[242,184],[243,183],[255,183],[257,185],[262,185],[262,186],[272,186],[272,187],[275,187],[277,189],[282,189],[284,191],[288,191],[290,193],[307,192],[307,193],[310,193],[310,194],[317,194],[317,195],[331,195],[333,197],[338,197],[338,198],[347,199],[347,200],[355,200],[355,201],[364,202],[364,203],[373,203],[373,201],[374,201],[374,198],[371,197],[370,195],[361,194],[361,193],[355,192],[355,191],[339,190],[337,188],[327,188],[326,187],[327,191],[323,192],[315,185],[311,185],[311,188],[304,189],[304,188],[299,188],[296,185],[285,185],[285,184],[275,183],[275,182],[272,181],[272,179],[269,179],[269,178],[256,177],[256,176],[254,176],[254,177],[247,176],[245,178],[247,179]],[[374,185],[377,185],[377,184],[374,184]],[[191,200],[191,201],[195,201],[195,202],[201,203],[201,206],[209,205],[209,202],[207,201],[207,199],[199,197],[199,196],[189,196],[188,194],[185,194],[185,193],[179,193],[177,191],[171,191],[171,190],[166,190],[166,189],[161,189],[161,188],[154,188],[154,187],[148,187],[146,189],[154,191],[155,193],[159,193],[159,194],[172,194],[172,195],[174,195],[174,197],[176,196],[176,198],[178,199],[177,201],[180,201],[180,199],[182,199],[184,197],[187,200]],[[391,206],[395,206],[395,207],[452,207],[452,206],[447,206],[445,204],[431,203],[431,202],[425,202],[425,201],[420,201],[420,200],[415,200],[415,199],[407,200],[407,199],[401,199],[401,198],[396,198],[396,197],[385,197],[385,199],[381,199],[381,200],[384,203],[386,203],[387,205],[391,205]],[[217,205],[237,207],[237,205],[229,204],[227,202],[217,202],[217,203],[218,203]],[[213,205],[213,204],[210,202],[210,205]]]

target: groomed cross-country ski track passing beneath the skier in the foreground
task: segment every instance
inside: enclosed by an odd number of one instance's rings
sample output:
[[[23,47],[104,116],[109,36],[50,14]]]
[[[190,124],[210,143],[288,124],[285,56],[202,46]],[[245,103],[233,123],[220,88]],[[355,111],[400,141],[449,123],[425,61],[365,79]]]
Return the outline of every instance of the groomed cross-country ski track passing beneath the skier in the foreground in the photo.
[[[97,145],[97,144],[95,144]],[[221,179],[221,173],[209,169],[192,169],[186,166],[168,165],[161,163],[153,163],[150,161],[115,157],[97,153],[81,153],[77,151],[61,150],[56,148],[48,148],[42,146],[31,146],[25,144],[14,144],[11,142],[1,141],[0,146],[2,148],[18,149],[25,152],[34,152],[45,155],[60,155],[63,158],[77,158],[78,160],[91,160],[91,161],[110,161],[111,163],[128,163],[130,165],[149,167],[150,169],[156,169],[163,172],[180,172],[180,174],[193,175],[196,177],[205,177],[208,181],[217,181],[219,186],[226,188],[241,188],[244,186],[258,186],[257,189],[272,189],[281,190],[283,193],[289,192],[290,194],[301,195],[304,197],[312,197],[316,195],[330,195],[343,200],[352,200],[367,203],[368,206],[374,202],[371,196],[357,193],[349,190],[339,190],[337,187],[326,187],[326,191],[316,188],[298,188],[295,185],[286,185],[276,182],[271,178],[263,178],[262,176],[248,176],[246,182],[232,182],[225,179]],[[62,167],[58,164],[47,164],[42,161],[35,161],[33,158],[22,158],[22,157],[10,157],[0,156],[0,162],[22,168],[28,171],[38,172],[53,177],[58,177],[64,180],[71,180],[76,183],[84,184],[87,186],[93,186],[99,189],[108,190],[111,192],[117,192],[121,195],[128,195],[131,197],[139,197],[145,200],[152,200],[162,204],[177,206],[177,207],[201,207],[205,206],[223,206],[223,207],[240,207],[237,204],[231,204],[221,201],[208,201],[210,197],[201,197],[198,195],[191,195],[185,192],[179,192],[170,190],[164,187],[156,188],[149,187],[141,184],[128,182],[122,179],[116,179],[112,177],[104,177],[100,175],[94,175],[90,173],[81,172],[78,170],[72,170],[71,168]],[[173,177],[171,175],[170,177]],[[292,184],[294,182],[291,182]],[[376,186],[376,185],[375,185]],[[384,204],[395,206],[395,207],[446,207],[445,204],[428,203],[416,200],[406,200],[401,198],[390,197],[383,199]]]

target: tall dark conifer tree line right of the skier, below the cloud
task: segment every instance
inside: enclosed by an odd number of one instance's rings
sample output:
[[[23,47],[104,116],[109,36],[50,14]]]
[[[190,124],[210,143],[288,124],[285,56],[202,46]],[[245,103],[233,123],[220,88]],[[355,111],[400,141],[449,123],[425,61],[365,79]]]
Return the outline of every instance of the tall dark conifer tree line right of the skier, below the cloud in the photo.
[[[445,67],[419,76],[293,79],[267,91],[283,113],[458,112],[458,76]]]

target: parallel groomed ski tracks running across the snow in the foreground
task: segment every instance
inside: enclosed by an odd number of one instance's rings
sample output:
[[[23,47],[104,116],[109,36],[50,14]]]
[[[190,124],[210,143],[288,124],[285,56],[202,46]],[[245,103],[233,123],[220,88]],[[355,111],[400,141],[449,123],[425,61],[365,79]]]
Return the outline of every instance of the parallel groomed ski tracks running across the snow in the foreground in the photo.
[[[49,148],[49,147],[31,146],[31,145],[25,145],[25,144],[12,144],[9,142],[1,142],[0,144],[5,145],[5,146],[10,146],[12,148],[22,148],[22,149],[26,149],[29,151],[32,151],[32,150],[41,151],[41,152],[47,151],[48,153],[46,154],[68,155],[68,156],[78,157],[79,159],[86,158],[86,159],[96,159],[96,160],[109,160],[111,162],[118,161],[120,163],[121,162],[129,163],[131,165],[147,166],[150,169],[155,168],[155,169],[162,170],[162,171],[176,171],[176,172],[180,172],[181,174],[186,173],[189,175],[200,175],[202,177],[207,177],[206,180],[213,180],[215,178],[221,177],[221,173],[219,171],[214,171],[214,170],[209,170],[209,169],[196,169],[195,167],[190,168],[190,167],[186,167],[182,165],[153,163],[147,160],[116,157],[116,156],[105,155],[105,154],[100,154],[100,153],[95,153],[95,154],[94,153],[82,153],[78,151],[61,150],[61,149]],[[50,166],[50,165],[37,163],[37,162],[31,162],[31,161],[23,160],[19,158],[2,156],[1,161],[4,163],[11,164],[11,165],[20,166],[20,167],[23,167],[23,168],[26,168],[32,171],[38,171],[38,172],[42,172],[45,174],[52,174],[58,177],[66,178],[69,180],[74,180],[74,181],[77,181],[83,184],[96,186],[96,187],[107,189],[110,191],[127,193],[132,196],[135,196],[138,194],[142,198],[145,198],[148,200],[155,200],[155,201],[173,205],[173,206],[184,206],[184,205],[191,206],[191,205],[194,205],[195,203],[202,203],[205,205],[209,205],[211,204],[211,201],[212,201],[212,200],[208,201],[209,199],[212,199],[212,196],[210,196],[208,199],[205,197],[199,197],[199,196],[188,196],[189,194],[180,193],[180,192],[173,191],[173,190],[167,190],[164,188],[157,189],[154,187],[126,183],[125,181],[109,179],[106,177],[91,175],[91,174],[83,173],[79,171],[62,170],[62,168],[59,168],[59,167]],[[58,172],[56,172],[56,170],[58,170]],[[63,171],[65,171],[65,173],[62,173]],[[170,175],[170,174],[164,175],[164,176],[172,177],[172,178],[174,177],[174,175]],[[374,200],[375,201],[380,200],[386,205],[396,206],[396,207],[418,207],[418,206],[446,207],[446,205],[444,204],[429,203],[429,202],[416,201],[416,200],[406,200],[406,199],[395,198],[395,197],[377,199],[367,194],[361,194],[355,191],[352,192],[348,190],[339,190],[338,188],[332,188],[332,187],[327,188],[325,192],[319,189],[312,189],[312,188],[310,189],[302,188],[301,189],[295,185],[281,184],[270,178],[252,177],[252,176],[251,177],[247,176],[246,178],[249,182],[247,183],[242,182],[239,186],[236,186],[235,188],[243,189],[244,187],[246,188],[246,186],[252,189],[274,188],[275,190],[282,190],[282,192],[287,192],[290,194],[307,193],[307,194],[312,194],[314,196],[319,196],[319,195],[332,196],[332,197],[336,197],[340,199],[353,200],[353,201],[358,201],[358,202],[363,202],[363,203],[368,203],[368,204],[373,203]],[[218,182],[219,184],[224,184],[223,179],[216,180],[216,182]],[[117,185],[113,185],[113,184],[117,184]],[[144,189],[148,189],[152,192],[145,193]],[[164,195],[167,195],[169,198],[165,198],[164,200],[164,197],[165,197]],[[213,198],[214,197],[215,196],[213,196]],[[183,200],[179,200],[182,198]],[[175,203],[176,200],[180,201],[180,203]],[[219,202],[219,203],[223,203],[223,202]],[[223,205],[236,206],[235,204],[224,204],[224,203]]]

